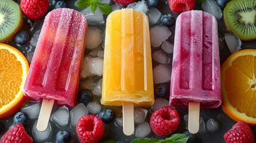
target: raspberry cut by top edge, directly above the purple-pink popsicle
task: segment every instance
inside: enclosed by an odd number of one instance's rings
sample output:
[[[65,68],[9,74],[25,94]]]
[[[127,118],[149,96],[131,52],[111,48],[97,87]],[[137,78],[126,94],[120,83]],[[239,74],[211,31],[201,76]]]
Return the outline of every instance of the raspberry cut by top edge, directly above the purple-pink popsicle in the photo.
[[[174,13],[193,10],[196,0],[168,0],[169,7]]]

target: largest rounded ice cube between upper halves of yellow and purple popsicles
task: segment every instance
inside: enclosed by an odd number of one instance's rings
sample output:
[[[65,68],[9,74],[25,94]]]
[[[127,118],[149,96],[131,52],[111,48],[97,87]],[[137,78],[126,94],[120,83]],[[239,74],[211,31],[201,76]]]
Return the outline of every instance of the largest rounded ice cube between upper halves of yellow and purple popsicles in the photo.
[[[166,26],[157,25],[150,29],[150,41],[154,47],[159,47],[171,36],[171,31]]]

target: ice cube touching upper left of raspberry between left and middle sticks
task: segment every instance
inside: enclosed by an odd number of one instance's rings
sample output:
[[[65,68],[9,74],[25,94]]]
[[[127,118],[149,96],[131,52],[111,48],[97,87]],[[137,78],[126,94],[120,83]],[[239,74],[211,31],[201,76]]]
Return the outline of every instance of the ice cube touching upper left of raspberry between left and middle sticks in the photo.
[[[76,105],[75,108],[73,108],[70,111],[70,125],[71,127],[75,127],[76,123],[78,123],[78,120],[84,116],[88,114],[88,110],[85,107],[84,104],[80,103],[78,105]]]

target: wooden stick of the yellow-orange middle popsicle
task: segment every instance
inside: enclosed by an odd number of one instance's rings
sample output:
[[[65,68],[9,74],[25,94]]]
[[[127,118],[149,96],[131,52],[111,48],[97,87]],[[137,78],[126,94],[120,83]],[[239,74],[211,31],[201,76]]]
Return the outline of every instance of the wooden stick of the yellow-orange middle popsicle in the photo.
[[[134,132],[134,108],[132,102],[123,102],[123,132],[132,135]]]

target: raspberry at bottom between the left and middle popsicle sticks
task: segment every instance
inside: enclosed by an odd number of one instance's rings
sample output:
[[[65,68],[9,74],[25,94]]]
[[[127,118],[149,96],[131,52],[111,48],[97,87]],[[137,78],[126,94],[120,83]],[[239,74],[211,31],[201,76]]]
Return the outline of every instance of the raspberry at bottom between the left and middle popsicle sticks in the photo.
[[[82,116],[76,125],[76,133],[82,143],[98,142],[104,134],[103,122],[94,114]]]

